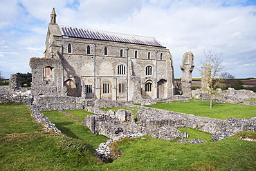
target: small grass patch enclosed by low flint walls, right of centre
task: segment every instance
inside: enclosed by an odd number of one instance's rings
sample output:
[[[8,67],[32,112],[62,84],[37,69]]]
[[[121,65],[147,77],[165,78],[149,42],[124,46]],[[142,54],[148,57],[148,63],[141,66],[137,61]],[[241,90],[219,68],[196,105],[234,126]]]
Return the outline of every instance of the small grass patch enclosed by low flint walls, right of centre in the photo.
[[[182,127],[182,128],[178,128],[178,130],[180,130],[181,132],[188,132],[189,137],[185,138],[185,139],[203,139],[205,141],[210,142],[210,140],[212,139],[212,134],[209,134],[207,132],[203,132],[201,130],[195,130],[192,128],[188,128],[188,127]]]

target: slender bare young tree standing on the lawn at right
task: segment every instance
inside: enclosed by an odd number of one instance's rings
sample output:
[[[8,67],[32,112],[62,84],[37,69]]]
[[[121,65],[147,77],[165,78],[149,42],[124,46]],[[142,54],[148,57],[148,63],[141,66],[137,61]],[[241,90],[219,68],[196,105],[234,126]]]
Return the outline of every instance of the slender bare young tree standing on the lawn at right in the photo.
[[[216,88],[223,86],[223,66],[221,65],[221,56],[223,53],[217,53],[212,50],[204,52],[205,61],[202,63],[201,76],[204,86],[203,90],[208,91],[210,97],[210,109],[212,109],[212,97],[216,95]]]

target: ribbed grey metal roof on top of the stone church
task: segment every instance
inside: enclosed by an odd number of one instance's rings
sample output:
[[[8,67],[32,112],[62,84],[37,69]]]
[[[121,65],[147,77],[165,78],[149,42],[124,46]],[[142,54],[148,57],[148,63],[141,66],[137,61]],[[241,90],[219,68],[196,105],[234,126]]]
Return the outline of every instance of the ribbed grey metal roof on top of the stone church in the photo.
[[[84,39],[96,39],[103,41],[117,41],[122,43],[134,43],[147,46],[164,47],[154,37],[143,37],[132,34],[123,34],[118,32],[108,32],[86,28],[75,28],[70,26],[60,26],[62,36],[78,37]]]

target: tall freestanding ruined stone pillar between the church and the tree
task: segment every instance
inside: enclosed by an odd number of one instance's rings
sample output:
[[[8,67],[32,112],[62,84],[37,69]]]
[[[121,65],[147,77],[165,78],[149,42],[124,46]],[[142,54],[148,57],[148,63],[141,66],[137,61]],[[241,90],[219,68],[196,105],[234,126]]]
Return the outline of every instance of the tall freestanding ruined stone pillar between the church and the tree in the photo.
[[[183,55],[181,70],[182,95],[184,97],[191,97],[192,71],[194,70],[194,55],[191,51],[185,52]]]

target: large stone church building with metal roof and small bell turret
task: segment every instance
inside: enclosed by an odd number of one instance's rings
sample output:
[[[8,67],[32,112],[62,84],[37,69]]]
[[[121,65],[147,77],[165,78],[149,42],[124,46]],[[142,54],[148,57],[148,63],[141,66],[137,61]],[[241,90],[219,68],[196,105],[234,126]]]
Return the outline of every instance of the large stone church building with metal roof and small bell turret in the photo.
[[[155,38],[56,23],[51,12],[43,58],[31,58],[35,96],[85,99],[174,95],[172,54]]]

